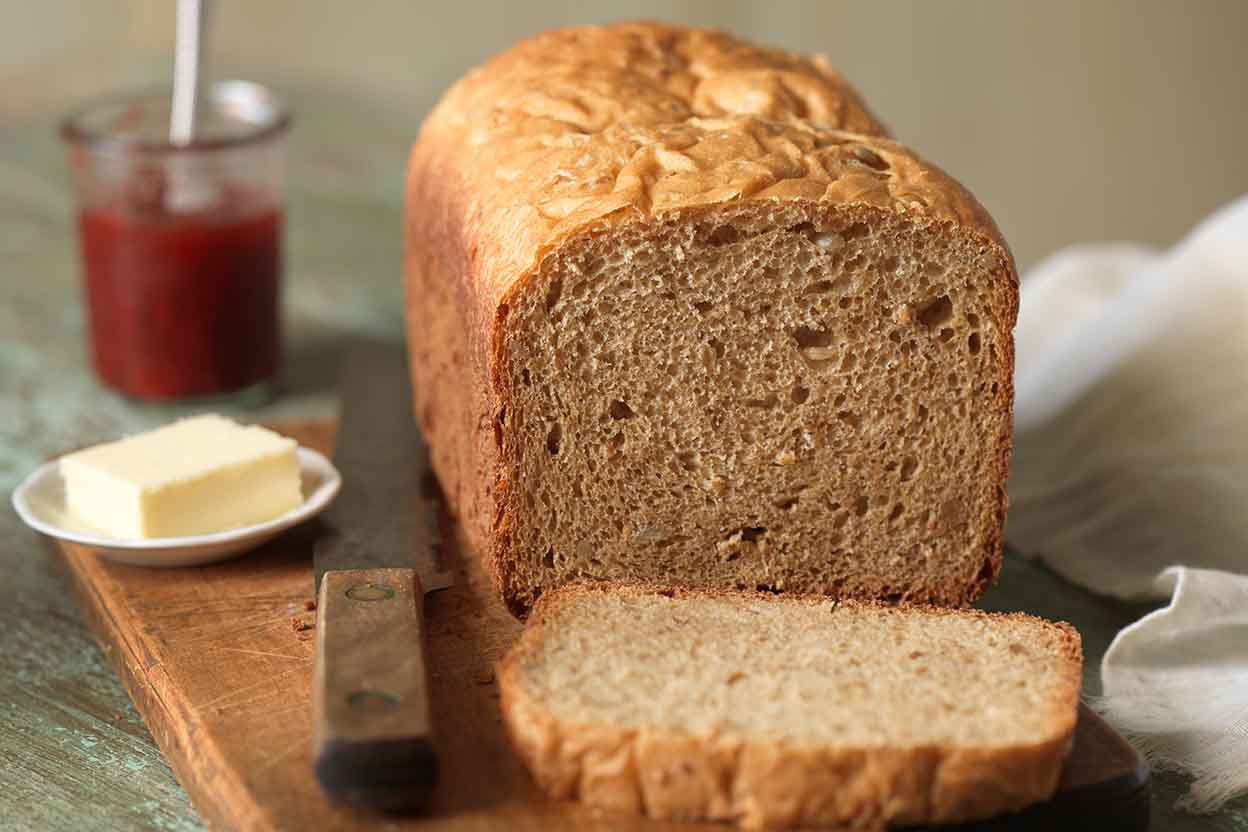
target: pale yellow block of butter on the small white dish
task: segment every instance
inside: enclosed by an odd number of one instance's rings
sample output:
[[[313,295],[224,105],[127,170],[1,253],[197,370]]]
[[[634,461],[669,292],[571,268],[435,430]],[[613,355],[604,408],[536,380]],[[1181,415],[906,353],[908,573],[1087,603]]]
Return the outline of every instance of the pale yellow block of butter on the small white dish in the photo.
[[[303,501],[297,443],[218,415],[61,458],[71,514],[115,538],[180,538],[271,520]]]

